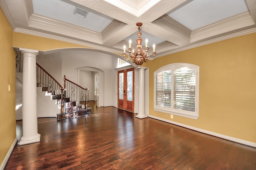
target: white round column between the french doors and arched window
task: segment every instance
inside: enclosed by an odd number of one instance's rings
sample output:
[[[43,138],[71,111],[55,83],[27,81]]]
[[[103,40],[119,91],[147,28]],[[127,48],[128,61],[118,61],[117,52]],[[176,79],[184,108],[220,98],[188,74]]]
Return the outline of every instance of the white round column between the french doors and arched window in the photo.
[[[135,117],[140,119],[148,117],[145,114],[145,69],[146,67],[140,67],[139,69],[139,106],[138,115]]]

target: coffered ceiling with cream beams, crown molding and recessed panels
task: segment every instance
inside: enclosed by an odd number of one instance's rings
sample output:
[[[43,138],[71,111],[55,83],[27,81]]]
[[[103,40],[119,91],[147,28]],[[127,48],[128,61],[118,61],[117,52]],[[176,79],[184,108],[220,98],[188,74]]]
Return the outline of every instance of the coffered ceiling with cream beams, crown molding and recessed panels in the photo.
[[[150,50],[156,44],[158,57],[256,31],[255,0],[0,0],[0,5],[14,31],[117,53],[129,39],[136,47],[136,22],[143,23],[142,39]]]

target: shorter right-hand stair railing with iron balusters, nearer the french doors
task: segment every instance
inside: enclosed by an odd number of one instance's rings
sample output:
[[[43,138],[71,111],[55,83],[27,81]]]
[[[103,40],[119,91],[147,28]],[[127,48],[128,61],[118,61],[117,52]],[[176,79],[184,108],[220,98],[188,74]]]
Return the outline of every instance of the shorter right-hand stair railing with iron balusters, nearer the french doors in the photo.
[[[66,90],[65,97],[69,98],[70,102],[76,102],[76,105],[84,105],[84,109],[89,108],[88,88],[79,86],[71,80],[68,80],[64,75],[64,89]]]

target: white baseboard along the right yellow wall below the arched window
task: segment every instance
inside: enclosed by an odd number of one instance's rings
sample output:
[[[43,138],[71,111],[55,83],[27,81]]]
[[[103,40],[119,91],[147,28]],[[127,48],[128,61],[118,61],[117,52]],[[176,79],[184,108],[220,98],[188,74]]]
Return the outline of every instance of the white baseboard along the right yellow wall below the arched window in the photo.
[[[174,125],[178,125],[178,126],[181,126],[181,127],[186,127],[188,129],[192,129],[194,131],[206,133],[208,135],[212,135],[212,136],[215,136],[215,137],[226,139],[228,141],[233,141],[233,142],[236,142],[236,143],[240,143],[240,144],[243,144],[243,145],[247,145],[247,146],[256,148],[256,143],[253,143],[253,142],[250,142],[250,141],[245,141],[245,140],[242,140],[242,139],[238,139],[238,138],[222,135],[222,134],[219,134],[219,133],[215,133],[215,132],[211,132],[211,131],[206,131],[204,129],[199,129],[197,127],[192,127],[192,126],[184,125],[182,123],[178,123],[178,122],[175,122],[175,121],[170,121],[170,120],[167,120],[167,119],[162,119],[162,118],[159,118],[159,117],[156,117],[156,116],[152,116],[152,115],[148,115],[148,117],[151,117],[151,118],[157,119],[157,120],[161,120],[161,121],[165,121],[167,123],[172,123]]]

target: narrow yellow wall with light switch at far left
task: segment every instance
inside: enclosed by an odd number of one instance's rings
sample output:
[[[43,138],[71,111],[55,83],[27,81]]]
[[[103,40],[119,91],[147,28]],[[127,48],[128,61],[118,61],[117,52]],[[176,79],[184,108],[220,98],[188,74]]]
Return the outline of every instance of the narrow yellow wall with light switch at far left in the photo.
[[[16,139],[15,51],[12,28],[0,8],[0,165]],[[10,85],[10,92],[8,90]]]

